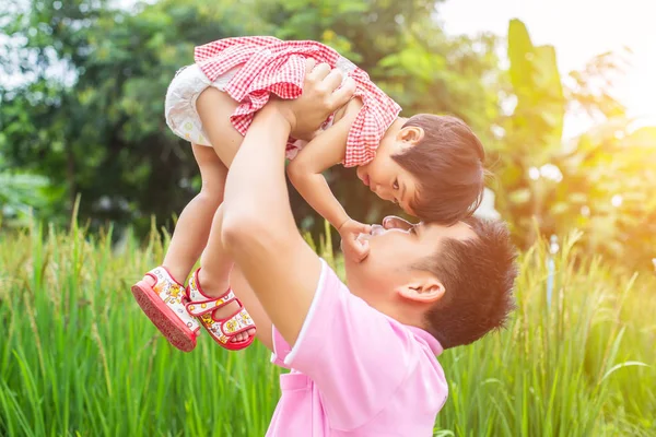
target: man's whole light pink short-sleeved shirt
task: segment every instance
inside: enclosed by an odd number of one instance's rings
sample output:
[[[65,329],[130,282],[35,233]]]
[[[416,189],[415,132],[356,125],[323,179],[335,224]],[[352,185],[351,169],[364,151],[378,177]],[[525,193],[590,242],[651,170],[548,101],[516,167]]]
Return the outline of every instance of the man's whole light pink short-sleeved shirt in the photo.
[[[447,383],[431,334],[353,296],[321,260],[294,347],[273,329],[282,397],[267,437],[433,435]]]

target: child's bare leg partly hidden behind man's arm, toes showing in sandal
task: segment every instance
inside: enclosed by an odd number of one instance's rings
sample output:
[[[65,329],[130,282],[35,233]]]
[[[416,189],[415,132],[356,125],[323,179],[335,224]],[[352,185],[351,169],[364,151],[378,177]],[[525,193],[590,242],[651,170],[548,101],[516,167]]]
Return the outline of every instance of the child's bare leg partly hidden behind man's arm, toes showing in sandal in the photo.
[[[214,146],[215,154],[230,167],[244,138],[237,132],[230,121],[237,103],[227,94],[215,88],[207,88],[198,97],[196,109],[202,121],[210,143]],[[219,211],[214,214],[212,228],[206,249],[200,258],[200,272],[198,281],[202,285],[202,292],[208,296],[218,297],[225,293],[230,286],[230,271],[233,261],[227,255],[221,241],[221,226],[223,214]],[[231,303],[216,310],[218,317],[230,317],[238,309],[237,303]],[[233,338],[234,342],[246,340],[254,335],[251,329]]]

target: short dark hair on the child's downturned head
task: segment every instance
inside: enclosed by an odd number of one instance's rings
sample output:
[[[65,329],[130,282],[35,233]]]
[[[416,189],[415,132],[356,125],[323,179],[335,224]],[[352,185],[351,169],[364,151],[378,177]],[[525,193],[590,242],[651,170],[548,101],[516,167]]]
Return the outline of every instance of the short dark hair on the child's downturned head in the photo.
[[[418,127],[423,139],[393,158],[419,180],[410,208],[424,222],[453,224],[470,216],[483,197],[485,152],[462,120],[418,114],[405,127]]]

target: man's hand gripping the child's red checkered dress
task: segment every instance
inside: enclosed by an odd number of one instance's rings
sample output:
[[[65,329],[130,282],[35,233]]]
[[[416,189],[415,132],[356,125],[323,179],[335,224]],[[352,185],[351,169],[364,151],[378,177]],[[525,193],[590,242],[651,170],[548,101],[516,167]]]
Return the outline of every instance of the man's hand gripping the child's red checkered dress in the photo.
[[[291,135],[312,140],[328,116],[344,106],[355,92],[355,82],[348,78],[343,85],[342,73],[327,63],[316,66],[314,59],[305,61],[303,94],[293,101],[272,99],[269,105],[278,109],[290,123]]]

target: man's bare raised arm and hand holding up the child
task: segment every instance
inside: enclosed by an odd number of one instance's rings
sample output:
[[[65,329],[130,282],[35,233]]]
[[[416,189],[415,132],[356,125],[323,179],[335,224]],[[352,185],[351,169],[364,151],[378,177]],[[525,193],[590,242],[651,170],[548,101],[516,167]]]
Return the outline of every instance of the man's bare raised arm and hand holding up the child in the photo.
[[[268,312],[293,345],[313,302],[321,262],[305,244],[290,205],[284,152],[291,132],[315,131],[354,92],[341,74],[308,62],[303,95],[273,101],[256,116],[227,175],[222,238]]]

